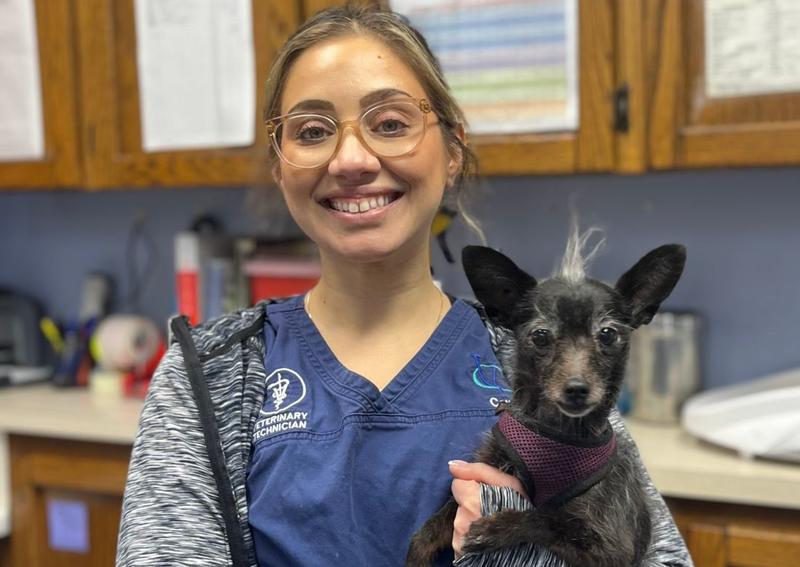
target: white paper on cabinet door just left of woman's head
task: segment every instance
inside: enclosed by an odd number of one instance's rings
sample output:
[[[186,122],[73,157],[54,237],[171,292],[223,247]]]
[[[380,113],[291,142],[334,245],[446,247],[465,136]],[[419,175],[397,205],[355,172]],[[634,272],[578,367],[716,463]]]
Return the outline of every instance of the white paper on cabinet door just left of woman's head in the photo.
[[[255,140],[251,0],[136,0],[142,146]]]

